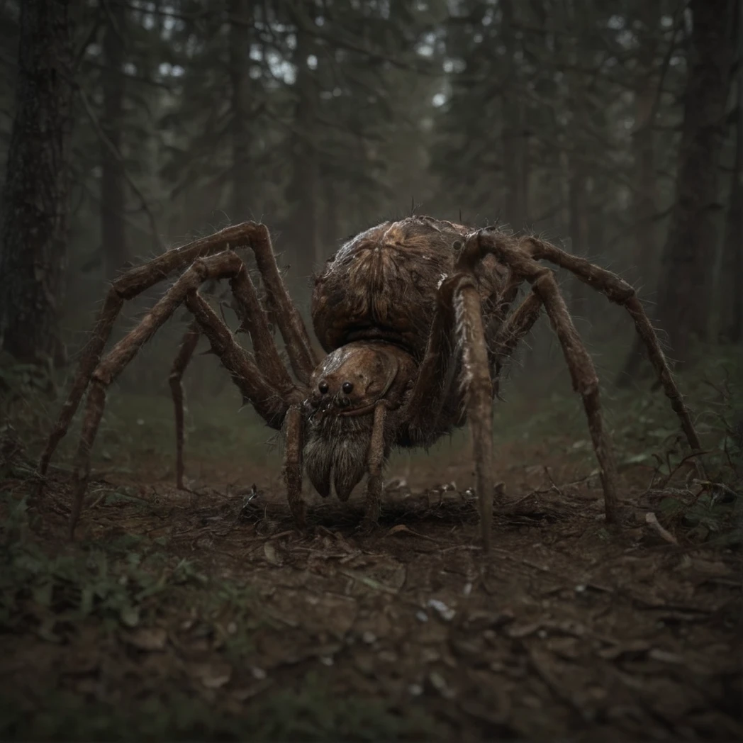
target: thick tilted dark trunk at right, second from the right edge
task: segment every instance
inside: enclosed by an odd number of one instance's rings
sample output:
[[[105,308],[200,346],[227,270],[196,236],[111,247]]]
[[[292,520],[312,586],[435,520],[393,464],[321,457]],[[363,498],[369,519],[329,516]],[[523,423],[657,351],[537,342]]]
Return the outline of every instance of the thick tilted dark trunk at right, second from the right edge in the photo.
[[[718,166],[730,88],[734,0],[691,0],[692,35],[676,201],[663,248],[658,319],[672,354],[690,360],[708,338]]]

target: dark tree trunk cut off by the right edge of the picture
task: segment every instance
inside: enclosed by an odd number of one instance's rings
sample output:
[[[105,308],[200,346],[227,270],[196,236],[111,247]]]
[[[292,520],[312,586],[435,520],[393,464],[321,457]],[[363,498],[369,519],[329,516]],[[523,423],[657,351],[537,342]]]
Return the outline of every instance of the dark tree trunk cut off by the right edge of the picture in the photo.
[[[743,1],[736,9],[738,67],[736,86],[736,155],[730,181],[730,206],[727,207],[725,241],[721,271],[721,340],[740,343],[743,340]]]

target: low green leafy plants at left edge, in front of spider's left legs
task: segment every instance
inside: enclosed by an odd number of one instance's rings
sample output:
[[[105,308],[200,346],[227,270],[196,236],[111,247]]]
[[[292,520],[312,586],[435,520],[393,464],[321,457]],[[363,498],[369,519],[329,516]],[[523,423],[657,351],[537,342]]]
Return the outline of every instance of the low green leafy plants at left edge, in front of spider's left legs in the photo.
[[[206,579],[174,560],[163,540],[124,534],[106,542],[45,545],[34,536],[25,499],[0,493],[0,632],[35,632],[62,643],[80,623],[104,633],[151,625],[160,600]]]

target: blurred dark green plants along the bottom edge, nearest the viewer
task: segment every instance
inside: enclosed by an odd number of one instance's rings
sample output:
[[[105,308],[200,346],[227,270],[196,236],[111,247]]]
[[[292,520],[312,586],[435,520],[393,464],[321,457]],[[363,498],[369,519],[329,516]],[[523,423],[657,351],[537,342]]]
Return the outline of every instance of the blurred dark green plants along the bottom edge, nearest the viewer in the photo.
[[[183,692],[161,692],[134,707],[56,692],[33,716],[0,701],[4,740],[250,740],[398,741],[441,740],[433,721],[418,710],[404,715],[383,701],[334,690],[310,672],[295,687],[247,706],[242,714],[220,711]]]

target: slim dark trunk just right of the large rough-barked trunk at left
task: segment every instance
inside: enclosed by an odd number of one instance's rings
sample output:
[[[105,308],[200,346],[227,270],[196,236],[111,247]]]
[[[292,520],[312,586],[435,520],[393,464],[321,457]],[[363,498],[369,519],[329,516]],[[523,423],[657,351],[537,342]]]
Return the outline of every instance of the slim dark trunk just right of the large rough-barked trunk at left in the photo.
[[[126,10],[120,4],[109,4],[103,14],[103,117],[101,129],[116,152],[121,153],[124,111],[124,26]],[[100,235],[103,241],[103,263],[107,279],[113,279],[129,261],[126,244],[126,186],[123,164],[106,143],[101,143],[103,169],[100,178]]]

